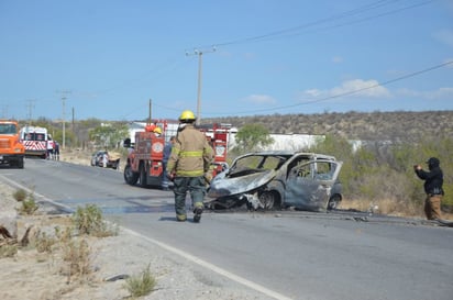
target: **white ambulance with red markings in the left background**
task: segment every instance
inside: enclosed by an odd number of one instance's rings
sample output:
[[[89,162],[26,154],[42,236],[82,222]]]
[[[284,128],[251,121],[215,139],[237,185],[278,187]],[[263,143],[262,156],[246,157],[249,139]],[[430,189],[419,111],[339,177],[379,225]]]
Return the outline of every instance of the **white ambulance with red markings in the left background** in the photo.
[[[46,158],[47,143],[52,141],[47,129],[38,126],[24,126],[20,132],[21,142],[25,147],[25,155]]]

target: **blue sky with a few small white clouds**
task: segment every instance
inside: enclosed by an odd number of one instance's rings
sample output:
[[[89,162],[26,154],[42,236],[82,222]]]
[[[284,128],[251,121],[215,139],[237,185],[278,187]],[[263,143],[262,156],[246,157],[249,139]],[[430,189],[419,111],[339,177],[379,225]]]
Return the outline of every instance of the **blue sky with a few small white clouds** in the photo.
[[[453,110],[452,0],[0,0],[0,118],[197,112],[196,49],[201,120]]]

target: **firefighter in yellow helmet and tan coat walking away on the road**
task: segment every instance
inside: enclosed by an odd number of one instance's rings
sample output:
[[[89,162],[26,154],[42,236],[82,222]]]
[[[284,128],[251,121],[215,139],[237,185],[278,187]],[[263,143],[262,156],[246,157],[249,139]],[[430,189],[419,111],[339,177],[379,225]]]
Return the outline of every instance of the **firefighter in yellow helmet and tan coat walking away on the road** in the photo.
[[[195,114],[190,110],[180,114],[178,133],[166,171],[174,182],[176,220],[187,220],[186,195],[190,192],[194,222],[198,223],[203,212],[205,173],[213,160],[213,151],[205,134],[195,129]]]

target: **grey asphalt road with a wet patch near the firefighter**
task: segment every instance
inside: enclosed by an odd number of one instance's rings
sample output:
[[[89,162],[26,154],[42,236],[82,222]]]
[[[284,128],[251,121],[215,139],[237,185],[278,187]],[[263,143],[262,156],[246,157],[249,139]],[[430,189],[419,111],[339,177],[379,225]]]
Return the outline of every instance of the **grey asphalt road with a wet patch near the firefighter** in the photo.
[[[115,170],[52,160],[1,167],[0,180],[34,190],[56,211],[95,203],[169,255],[268,298],[453,299],[451,227],[349,212],[207,211],[199,224],[179,223],[170,191],[128,186]]]

